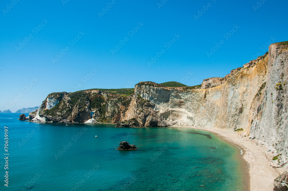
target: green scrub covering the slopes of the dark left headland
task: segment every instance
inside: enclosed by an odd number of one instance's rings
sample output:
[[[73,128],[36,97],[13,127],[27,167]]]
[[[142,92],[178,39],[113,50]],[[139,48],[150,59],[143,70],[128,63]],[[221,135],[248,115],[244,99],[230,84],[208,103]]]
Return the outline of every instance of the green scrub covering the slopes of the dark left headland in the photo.
[[[98,122],[111,123],[113,116],[120,114],[121,110],[126,111],[128,109],[132,100],[130,95],[134,93],[133,88],[95,90],[99,90],[99,92],[81,90],[71,93],[50,93],[48,98],[54,98],[59,102],[51,109],[44,109],[47,102],[44,100],[42,104],[43,114],[48,117],[51,116],[53,119],[61,117],[71,121],[83,114],[90,115],[89,111],[92,110],[95,111],[94,118]],[[107,111],[109,112],[107,113]]]

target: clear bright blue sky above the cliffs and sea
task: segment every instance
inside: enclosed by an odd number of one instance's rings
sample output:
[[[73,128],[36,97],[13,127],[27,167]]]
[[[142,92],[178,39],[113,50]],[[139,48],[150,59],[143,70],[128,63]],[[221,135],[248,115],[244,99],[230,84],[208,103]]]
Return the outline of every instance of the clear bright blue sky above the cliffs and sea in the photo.
[[[224,77],[268,51],[265,44],[288,40],[287,5],[3,0],[0,110],[39,106],[52,92]]]

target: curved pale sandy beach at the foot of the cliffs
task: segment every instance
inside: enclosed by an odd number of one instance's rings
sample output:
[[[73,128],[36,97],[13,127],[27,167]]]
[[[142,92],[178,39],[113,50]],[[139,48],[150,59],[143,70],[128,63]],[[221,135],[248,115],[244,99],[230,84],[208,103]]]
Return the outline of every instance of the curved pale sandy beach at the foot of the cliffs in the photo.
[[[175,126],[173,126],[175,127]],[[286,169],[272,168],[271,163],[265,156],[267,148],[265,146],[257,145],[247,137],[242,137],[232,131],[222,129],[212,129],[207,127],[189,127],[189,126],[176,126],[185,128],[201,129],[217,133],[232,144],[244,149],[243,158],[249,164],[250,174],[250,191],[272,191],[274,179],[279,176],[279,172],[283,173]],[[278,172],[279,171],[279,172]]]

